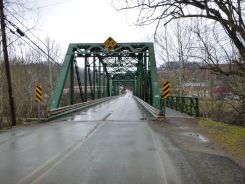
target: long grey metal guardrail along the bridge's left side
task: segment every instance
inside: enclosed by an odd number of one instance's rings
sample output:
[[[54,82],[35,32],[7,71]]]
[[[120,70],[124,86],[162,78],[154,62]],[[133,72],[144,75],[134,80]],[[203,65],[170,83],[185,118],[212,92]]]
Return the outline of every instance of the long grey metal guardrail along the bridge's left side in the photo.
[[[88,102],[82,102],[74,105],[69,105],[69,106],[64,106],[60,107],[57,109],[53,109],[48,111],[48,120],[54,120],[56,118],[60,118],[62,116],[65,116],[67,114],[100,104],[102,102],[108,101],[108,100],[113,100],[117,98],[117,96],[112,96],[112,97],[105,97],[105,98],[100,98],[96,100],[90,100]]]

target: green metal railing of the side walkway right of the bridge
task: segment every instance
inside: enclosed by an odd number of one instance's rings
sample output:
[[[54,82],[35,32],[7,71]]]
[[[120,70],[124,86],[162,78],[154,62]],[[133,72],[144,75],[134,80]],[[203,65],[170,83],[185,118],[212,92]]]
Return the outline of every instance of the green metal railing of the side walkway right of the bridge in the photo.
[[[166,106],[187,113],[190,116],[199,116],[198,98],[169,96],[166,100]]]

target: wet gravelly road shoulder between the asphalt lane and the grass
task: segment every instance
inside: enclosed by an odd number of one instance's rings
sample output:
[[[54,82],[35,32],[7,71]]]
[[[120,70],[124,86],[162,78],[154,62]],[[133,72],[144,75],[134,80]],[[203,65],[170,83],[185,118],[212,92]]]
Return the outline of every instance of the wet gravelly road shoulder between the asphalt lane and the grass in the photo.
[[[194,118],[149,121],[183,183],[245,183],[245,168],[206,136]],[[174,145],[168,147],[168,145]],[[171,148],[171,149],[170,149]]]

